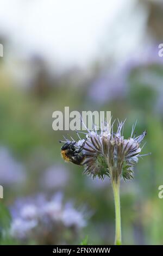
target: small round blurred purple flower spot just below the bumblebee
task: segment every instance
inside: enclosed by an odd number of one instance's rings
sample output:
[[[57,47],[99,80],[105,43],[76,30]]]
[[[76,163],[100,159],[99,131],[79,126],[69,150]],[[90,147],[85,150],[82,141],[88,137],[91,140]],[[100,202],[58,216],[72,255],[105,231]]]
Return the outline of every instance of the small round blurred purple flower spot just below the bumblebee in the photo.
[[[70,179],[70,173],[61,164],[56,164],[49,167],[41,177],[41,185],[47,189],[65,187]]]

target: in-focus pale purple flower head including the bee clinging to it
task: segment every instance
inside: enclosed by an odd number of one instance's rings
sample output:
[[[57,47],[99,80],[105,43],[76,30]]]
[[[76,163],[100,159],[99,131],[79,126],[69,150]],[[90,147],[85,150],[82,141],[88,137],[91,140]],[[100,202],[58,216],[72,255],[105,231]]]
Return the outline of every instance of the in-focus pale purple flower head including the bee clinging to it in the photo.
[[[109,176],[115,181],[120,176],[123,176],[124,180],[133,178],[133,169],[141,156],[141,142],[146,136],[146,131],[138,137],[133,136],[135,123],[130,138],[124,139],[124,123],[125,121],[118,121],[116,133],[113,132],[114,123],[110,127],[105,122],[98,131],[93,125],[92,131],[87,129],[87,133],[84,133],[85,139],[81,139],[77,132],[79,141],[71,142],[66,139],[64,142],[69,147],[64,159],[84,166],[84,173],[93,178],[98,176],[104,179]]]

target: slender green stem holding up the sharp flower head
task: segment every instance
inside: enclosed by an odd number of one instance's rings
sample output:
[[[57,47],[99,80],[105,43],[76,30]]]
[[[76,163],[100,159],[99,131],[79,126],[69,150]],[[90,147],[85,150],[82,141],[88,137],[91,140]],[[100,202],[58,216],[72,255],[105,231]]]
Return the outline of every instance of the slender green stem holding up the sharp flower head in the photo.
[[[121,209],[120,209],[120,178],[117,181],[112,180],[112,190],[115,202],[115,245],[122,245],[121,241]]]

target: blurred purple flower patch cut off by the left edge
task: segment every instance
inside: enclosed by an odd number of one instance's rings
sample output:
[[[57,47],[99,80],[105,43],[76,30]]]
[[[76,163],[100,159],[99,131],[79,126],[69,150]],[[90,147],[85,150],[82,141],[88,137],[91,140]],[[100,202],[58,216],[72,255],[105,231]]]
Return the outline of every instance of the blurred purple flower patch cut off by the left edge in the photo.
[[[8,149],[0,147],[0,182],[1,185],[10,185],[23,182],[26,178],[24,167],[18,163]]]

